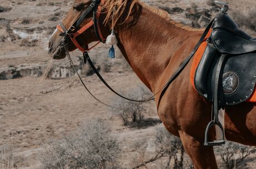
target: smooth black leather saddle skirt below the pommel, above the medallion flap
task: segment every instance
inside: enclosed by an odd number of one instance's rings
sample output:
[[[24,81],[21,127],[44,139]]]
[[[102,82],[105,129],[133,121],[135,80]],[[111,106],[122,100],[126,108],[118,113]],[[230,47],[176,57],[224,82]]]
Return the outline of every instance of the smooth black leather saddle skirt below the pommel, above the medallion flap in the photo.
[[[220,53],[244,54],[256,51],[256,40],[239,37],[225,29],[213,29],[211,39]]]

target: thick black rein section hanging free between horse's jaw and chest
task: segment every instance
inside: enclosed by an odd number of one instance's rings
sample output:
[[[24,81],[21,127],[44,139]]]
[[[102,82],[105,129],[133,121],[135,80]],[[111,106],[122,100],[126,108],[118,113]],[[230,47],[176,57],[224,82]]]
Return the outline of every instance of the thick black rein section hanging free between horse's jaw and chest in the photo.
[[[90,64],[91,68],[93,69],[93,71],[96,73],[96,75],[100,78],[100,80],[102,81],[102,83],[104,83],[107,88],[109,88],[113,93],[115,93],[116,95],[120,96],[121,98],[123,99],[126,99],[126,100],[130,100],[130,101],[136,101],[136,102],[145,102],[145,101],[150,101],[150,100],[154,100],[154,98],[151,98],[151,99],[148,99],[148,100],[134,100],[134,99],[129,99],[129,98],[126,98],[125,96],[122,96],[121,94],[117,93],[114,89],[112,89],[110,87],[109,84],[107,84],[107,82],[102,78],[102,76],[100,75],[99,71],[95,68],[95,66],[93,65],[89,55],[87,52],[84,52],[83,53],[83,57],[86,58],[86,60],[88,61],[88,63]]]

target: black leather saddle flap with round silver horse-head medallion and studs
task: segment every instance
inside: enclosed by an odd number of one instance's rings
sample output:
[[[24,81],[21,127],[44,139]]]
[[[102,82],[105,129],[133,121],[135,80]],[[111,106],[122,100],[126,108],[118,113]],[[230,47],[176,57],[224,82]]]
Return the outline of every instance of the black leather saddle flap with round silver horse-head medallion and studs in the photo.
[[[250,98],[256,81],[255,57],[256,53],[228,55],[220,73],[220,105],[235,105]],[[216,66],[214,65],[213,74]],[[214,81],[214,76],[208,81],[208,86],[211,86],[209,93],[213,93]]]

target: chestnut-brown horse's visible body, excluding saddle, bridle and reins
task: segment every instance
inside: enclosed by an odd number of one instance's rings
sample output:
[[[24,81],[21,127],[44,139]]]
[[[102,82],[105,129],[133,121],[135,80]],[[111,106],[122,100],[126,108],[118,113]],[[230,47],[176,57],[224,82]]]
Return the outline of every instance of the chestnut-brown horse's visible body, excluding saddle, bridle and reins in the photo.
[[[65,27],[69,28],[90,3],[90,0],[75,0],[63,20]],[[114,23],[117,46],[152,93],[163,88],[203,33],[171,21],[164,11],[146,6],[139,0],[106,0],[102,10],[99,18],[102,35],[107,37]],[[92,13],[89,13],[80,27],[91,18]],[[54,59],[66,57],[60,45],[60,33],[56,29],[49,43],[49,52]],[[93,27],[78,36],[77,41],[81,45],[97,41]],[[68,40],[68,50],[75,49]],[[157,112],[166,129],[180,137],[195,168],[218,168],[213,147],[204,146],[205,128],[211,120],[211,104],[191,86],[190,68],[191,62],[156,105]],[[158,103],[159,95],[155,96],[155,101]],[[256,106],[253,103],[226,107],[225,137],[241,144],[256,145]],[[211,138],[214,138],[214,131]]]

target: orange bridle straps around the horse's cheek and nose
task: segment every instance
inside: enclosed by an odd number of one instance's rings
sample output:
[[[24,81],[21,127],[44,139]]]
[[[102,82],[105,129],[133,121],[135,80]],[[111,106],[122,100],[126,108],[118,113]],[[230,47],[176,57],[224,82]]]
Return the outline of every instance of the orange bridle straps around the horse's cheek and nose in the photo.
[[[100,2],[100,4],[99,4]],[[81,14],[81,16],[71,25],[71,27],[69,29],[66,29],[65,25],[63,25],[63,23],[59,23],[57,25],[57,29],[60,30],[62,33],[60,35],[65,36],[65,38],[70,37],[70,39],[72,40],[73,44],[77,47],[77,49],[81,50],[81,52],[86,52],[90,49],[85,49],[84,47],[82,47],[76,40],[76,37],[78,37],[80,34],[82,34],[83,32],[85,32],[88,28],[94,26],[95,29],[95,34],[97,36],[97,38],[99,39],[99,42],[96,43],[99,44],[100,42],[105,43],[106,38],[104,38],[101,34],[101,30],[99,27],[99,18],[100,18],[100,14],[102,11],[102,6],[105,3],[105,0],[92,0],[92,3],[90,4],[90,6],[85,10],[85,12],[83,12]],[[93,17],[91,19],[90,22],[88,22],[87,24],[85,24],[82,28],[80,29],[76,29],[79,25],[81,25],[82,21],[86,18],[87,14],[92,11],[93,12]],[[67,40],[67,39],[65,39]],[[94,45],[93,47],[95,47],[96,45]],[[92,47],[92,48],[93,48]]]

